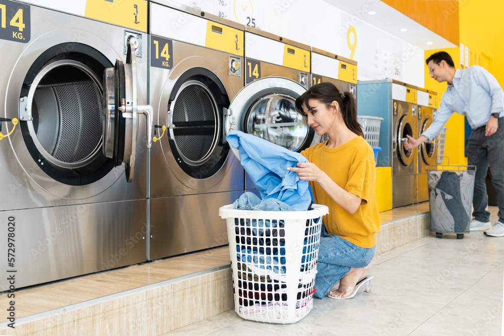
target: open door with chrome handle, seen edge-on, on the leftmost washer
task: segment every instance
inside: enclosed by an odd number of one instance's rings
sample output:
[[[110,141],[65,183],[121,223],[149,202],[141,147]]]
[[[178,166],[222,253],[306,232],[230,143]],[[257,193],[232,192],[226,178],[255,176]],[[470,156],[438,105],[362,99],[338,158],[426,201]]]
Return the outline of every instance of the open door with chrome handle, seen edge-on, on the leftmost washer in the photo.
[[[133,180],[137,141],[137,116],[146,117],[146,147],[151,148],[152,107],[138,105],[135,49],[128,44],[126,63],[115,61],[105,69],[103,99],[103,154],[114,166],[124,163],[128,183]]]

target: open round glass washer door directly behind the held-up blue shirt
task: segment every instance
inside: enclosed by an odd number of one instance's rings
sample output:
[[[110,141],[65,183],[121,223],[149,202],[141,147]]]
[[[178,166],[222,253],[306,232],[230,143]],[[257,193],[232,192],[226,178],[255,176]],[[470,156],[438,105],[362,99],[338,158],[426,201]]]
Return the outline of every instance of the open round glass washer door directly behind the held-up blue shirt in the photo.
[[[297,97],[304,92],[302,85],[282,77],[246,85],[224,111],[224,138],[234,129],[295,152],[310,147],[317,135],[295,108]],[[238,150],[231,150],[239,158]]]

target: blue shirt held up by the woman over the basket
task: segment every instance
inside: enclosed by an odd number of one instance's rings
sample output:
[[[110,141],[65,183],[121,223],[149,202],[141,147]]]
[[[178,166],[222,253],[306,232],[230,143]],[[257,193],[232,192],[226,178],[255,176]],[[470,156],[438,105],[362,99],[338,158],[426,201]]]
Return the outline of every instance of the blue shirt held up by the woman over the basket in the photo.
[[[304,156],[240,131],[229,131],[226,139],[238,149],[241,165],[263,201],[275,198],[295,211],[308,210],[311,205],[308,181],[301,181],[295,172],[287,170],[298,162],[308,162]]]

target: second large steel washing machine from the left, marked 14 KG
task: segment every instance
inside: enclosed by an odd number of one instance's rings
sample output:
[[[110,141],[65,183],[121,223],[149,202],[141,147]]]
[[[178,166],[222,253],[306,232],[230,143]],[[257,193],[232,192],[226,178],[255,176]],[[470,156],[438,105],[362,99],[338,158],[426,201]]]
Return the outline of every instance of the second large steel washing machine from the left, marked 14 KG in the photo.
[[[243,193],[224,118],[244,86],[244,26],[163,0],[150,3],[150,15],[149,259],[156,259],[228,243],[217,212]]]

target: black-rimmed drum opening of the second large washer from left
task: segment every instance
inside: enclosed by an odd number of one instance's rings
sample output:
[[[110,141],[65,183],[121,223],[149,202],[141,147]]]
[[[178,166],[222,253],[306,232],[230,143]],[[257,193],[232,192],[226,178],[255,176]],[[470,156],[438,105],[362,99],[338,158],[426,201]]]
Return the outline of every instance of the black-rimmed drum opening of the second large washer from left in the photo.
[[[229,147],[222,142],[222,108],[227,106],[225,87],[208,69],[192,68],[180,75],[168,101],[169,164],[172,156],[191,178],[215,175],[229,155]]]

